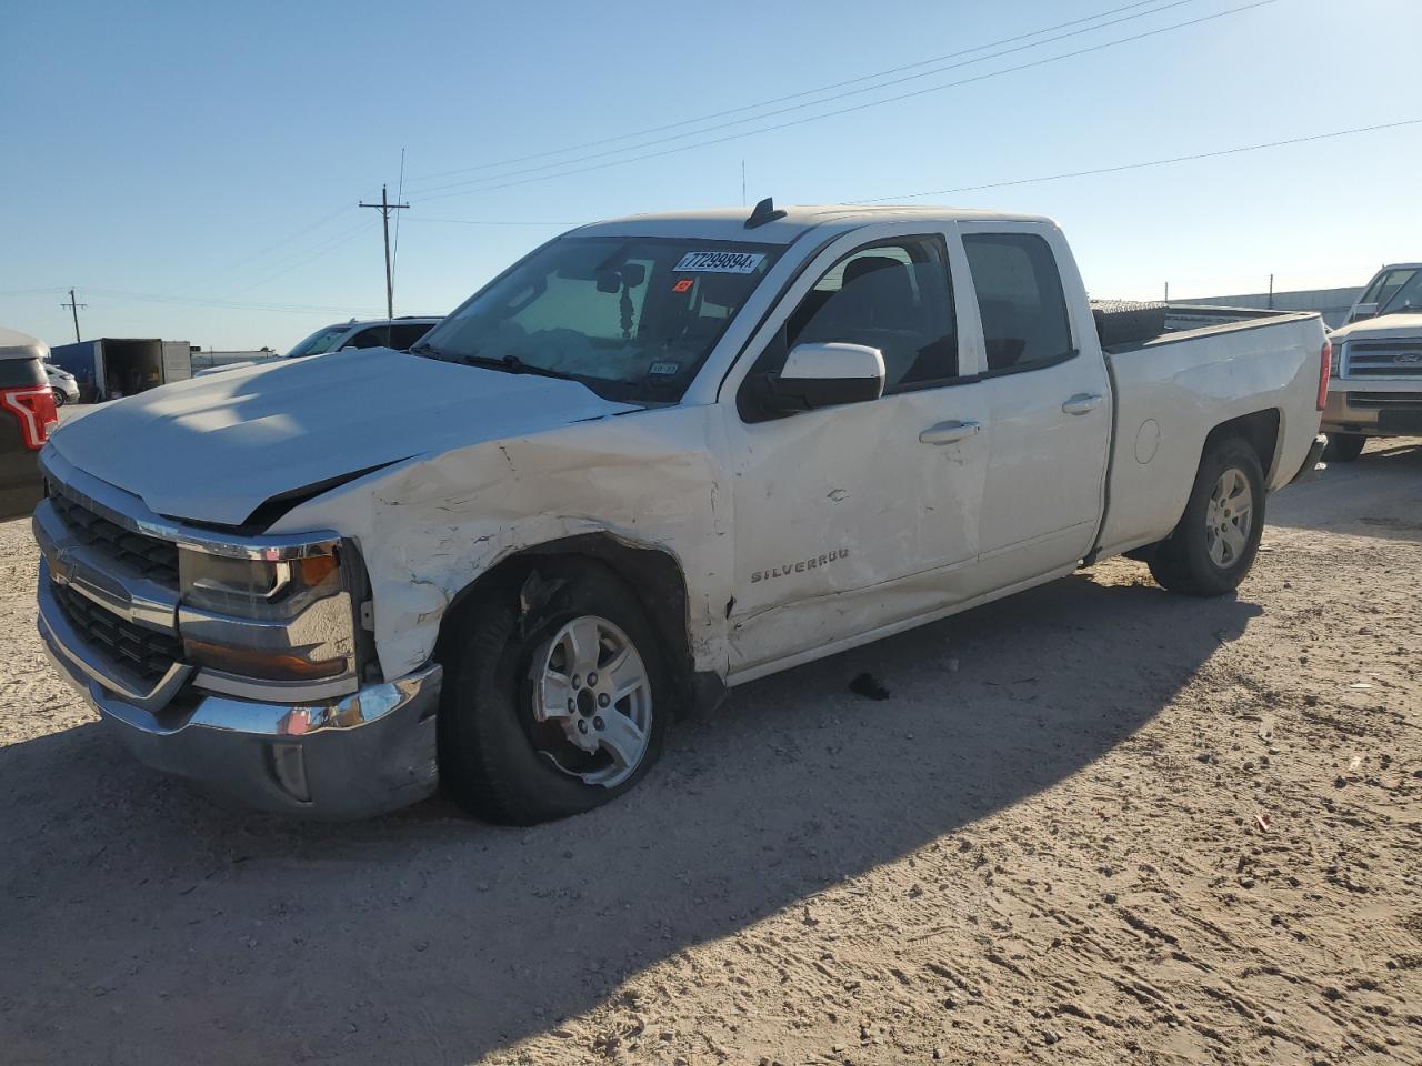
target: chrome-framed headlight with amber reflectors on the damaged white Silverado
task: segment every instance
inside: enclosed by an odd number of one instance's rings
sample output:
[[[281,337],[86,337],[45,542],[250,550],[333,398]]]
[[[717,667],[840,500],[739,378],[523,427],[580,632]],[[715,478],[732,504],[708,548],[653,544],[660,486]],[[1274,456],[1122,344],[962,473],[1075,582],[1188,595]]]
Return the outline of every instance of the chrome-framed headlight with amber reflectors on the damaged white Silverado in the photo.
[[[178,576],[178,630],[185,658],[206,671],[199,684],[215,687],[212,671],[266,682],[354,677],[353,600],[334,551],[267,561],[182,549]]]

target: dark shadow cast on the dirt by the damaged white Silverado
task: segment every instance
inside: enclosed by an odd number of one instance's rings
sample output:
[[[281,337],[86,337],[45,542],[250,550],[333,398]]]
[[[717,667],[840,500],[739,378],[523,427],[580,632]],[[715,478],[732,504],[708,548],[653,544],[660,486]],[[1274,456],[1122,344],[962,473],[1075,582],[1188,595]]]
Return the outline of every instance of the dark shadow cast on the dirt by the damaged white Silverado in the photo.
[[[1258,613],[1057,581],[738,689],[633,793],[538,829],[442,800],[353,826],[225,812],[97,725],[0,749],[0,1046],[475,1060],[1082,770]],[[865,669],[887,699],[846,691]]]

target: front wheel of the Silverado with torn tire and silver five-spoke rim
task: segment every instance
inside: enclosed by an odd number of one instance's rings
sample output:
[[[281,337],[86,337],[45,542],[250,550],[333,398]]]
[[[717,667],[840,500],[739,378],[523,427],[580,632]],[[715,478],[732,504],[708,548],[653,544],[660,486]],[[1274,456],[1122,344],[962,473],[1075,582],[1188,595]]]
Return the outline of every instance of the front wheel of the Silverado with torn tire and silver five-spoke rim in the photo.
[[[540,563],[451,625],[439,776],[465,810],[525,826],[580,814],[656,762],[671,687],[641,604],[611,571]]]

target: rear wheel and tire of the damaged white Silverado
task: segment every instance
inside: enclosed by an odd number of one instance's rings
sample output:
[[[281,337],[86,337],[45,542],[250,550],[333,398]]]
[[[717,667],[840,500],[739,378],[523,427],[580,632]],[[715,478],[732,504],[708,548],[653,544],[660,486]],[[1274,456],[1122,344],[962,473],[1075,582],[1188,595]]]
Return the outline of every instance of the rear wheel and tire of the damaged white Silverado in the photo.
[[[1223,596],[1254,564],[1264,533],[1264,472],[1237,438],[1212,443],[1200,459],[1185,515],[1150,556],[1150,576],[1172,593]]]

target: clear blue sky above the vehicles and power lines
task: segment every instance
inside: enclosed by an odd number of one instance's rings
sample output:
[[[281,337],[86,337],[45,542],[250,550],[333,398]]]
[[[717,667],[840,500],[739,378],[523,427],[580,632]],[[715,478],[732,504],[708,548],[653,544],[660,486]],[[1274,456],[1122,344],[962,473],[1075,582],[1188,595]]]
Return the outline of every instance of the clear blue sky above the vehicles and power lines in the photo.
[[[1419,0],[1276,0],[1085,55],[583,173],[529,171],[762,114],[442,178],[920,63],[1128,0],[65,3],[4,0],[0,323],[73,340],[286,348],[378,314],[377,212],[405,159],[397,314],[444,313],[562,223],[853,200],[1422,118]],[[644,148],[698,145],[1240,7],[1150,0],[957,70]],[[840,92],[876,82],[859,82]],[[801,97],[775,105],[820,99]],[[768,108],[768,109],[775,109]],[[624,156],[600,155],[562,169]],[[483,185],[444,188],[475,178]],[[926,198],[1066,229],[1094,296],[1361,284],[1422,259],[1422,125]],[[422,181],[421,181],[422,179]],[[489,185],[523,181],[516,188]],[[441,219],[481,223],[456,225]],[[542,225],[549,223],[549,225]],[[154,297],[162,297],[156,300]],[[242,304],[240,307],[235,304]],[[277,310],[284,308],[284,310]],[[296,310],[292,310],[296,308]]]

